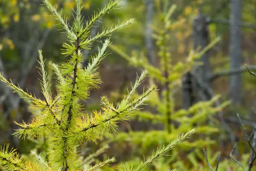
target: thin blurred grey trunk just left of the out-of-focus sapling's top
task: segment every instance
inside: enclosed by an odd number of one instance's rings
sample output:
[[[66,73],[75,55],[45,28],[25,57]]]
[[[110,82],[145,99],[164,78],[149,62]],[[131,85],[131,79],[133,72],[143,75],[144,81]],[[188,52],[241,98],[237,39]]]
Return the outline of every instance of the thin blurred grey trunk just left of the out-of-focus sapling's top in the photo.
[[[147,57],[150,64],[155,65],[154,58],[154,43],[152,38],[152,29],[150,27],[153,20],[153,9],[154,9],[154,0],[146,1],[146,36],[145,43],[147,49]]]

